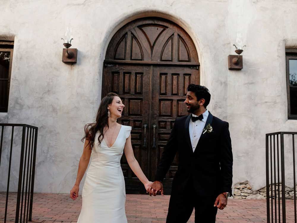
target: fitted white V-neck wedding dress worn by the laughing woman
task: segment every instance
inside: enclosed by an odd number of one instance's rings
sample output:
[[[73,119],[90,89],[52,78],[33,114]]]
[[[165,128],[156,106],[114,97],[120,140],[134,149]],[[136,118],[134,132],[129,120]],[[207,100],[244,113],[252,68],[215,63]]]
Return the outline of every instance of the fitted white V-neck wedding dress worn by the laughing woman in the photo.
[[[127,223],[125,181],[120,160],[131,129],[131,126],[122,125],[110,148],[104,139],[98,145],[99,131],[95,135],[77,223]]]

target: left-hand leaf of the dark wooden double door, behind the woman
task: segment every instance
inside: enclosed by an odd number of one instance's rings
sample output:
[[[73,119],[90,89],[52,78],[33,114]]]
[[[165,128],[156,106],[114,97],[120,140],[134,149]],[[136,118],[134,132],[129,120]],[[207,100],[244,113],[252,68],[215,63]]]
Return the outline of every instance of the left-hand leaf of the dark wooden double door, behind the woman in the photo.
[[[144,125],[149,122],[149,80],[150,66],[111,65],[104,68],[102,97],[108,92],[119,95],[125,107],[118,123],[132,126],[131,142],[134,156],[143,173],[148,175],[148,146],[143,146]],[[149,141],[148,141],[149,142]],[[126,192],[145,193],[145,189],[133,171],[130,169],[125,154],[121,159]]]

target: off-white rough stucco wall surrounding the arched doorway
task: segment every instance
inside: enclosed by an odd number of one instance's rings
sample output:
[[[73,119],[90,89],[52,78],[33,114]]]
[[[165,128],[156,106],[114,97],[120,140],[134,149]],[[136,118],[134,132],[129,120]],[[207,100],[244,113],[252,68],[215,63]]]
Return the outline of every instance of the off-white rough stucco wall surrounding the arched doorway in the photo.
[[[72,188],[83,126],[94,120],[101,99],[108,42],[122,25],[144,16],[168,18],[189,32],[201,84],[212,95],[208,109],[230,124],[233,182],[265,186],[265,134],[297,131],[297,120],[287,119],[285,70],[285,46],[297,43],[296,10],[297,1],[286,0],[1,1],[0,35],[14,35],[15,44],[8,113],[0,113],[0,123],[39,127],[35,192]],[[67,26],[78,48],[74,65],[61,61]],[[227,57],[235,54],[237,32],[247,45],[244,69],[231,71]],[[1,179],[8,153],[3,148]]]

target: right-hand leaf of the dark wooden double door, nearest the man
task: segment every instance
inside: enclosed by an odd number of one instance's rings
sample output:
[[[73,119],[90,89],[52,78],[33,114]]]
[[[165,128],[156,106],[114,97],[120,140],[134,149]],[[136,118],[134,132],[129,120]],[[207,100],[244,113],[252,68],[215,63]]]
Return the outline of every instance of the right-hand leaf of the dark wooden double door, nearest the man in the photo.
[[[176,117],[188,115],[184,104],[187,86],[199,84],[199,70],[189,67],[154,66],[152,71],[152,110],[151,123],[156,125],[156,146],[151,148],[150,176],[154,178],[162,152],[169,139]],[[153,133],[152,133],[153,134]],[[166,194],[171,192],[171,184],[178,167],[178,154],[175,156],[164,179]]]

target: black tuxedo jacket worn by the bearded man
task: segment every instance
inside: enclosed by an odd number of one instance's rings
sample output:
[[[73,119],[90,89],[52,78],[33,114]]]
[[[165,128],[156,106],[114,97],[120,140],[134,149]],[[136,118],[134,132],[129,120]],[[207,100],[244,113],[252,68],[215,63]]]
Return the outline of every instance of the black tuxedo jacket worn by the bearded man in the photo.
[[[193,152],[189,135],[189,116],[176,118],[167,145],[162,153],[155,180],[163,181],[176,153],[178,169],[172,183],[172,194],[184,192],[192,183],[200,196],[232,194],[233,155],[228,122],[210,112],[205,126],[211,124],[211,133],[201,134]]]

